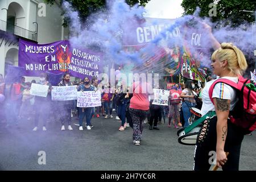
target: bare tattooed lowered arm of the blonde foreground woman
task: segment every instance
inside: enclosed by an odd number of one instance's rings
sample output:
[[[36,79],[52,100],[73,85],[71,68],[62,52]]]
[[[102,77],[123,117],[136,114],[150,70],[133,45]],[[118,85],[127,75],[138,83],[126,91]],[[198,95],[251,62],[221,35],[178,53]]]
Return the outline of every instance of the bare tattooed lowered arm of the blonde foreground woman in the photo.
[[[217,144],[216,144],[216,162],[221,167],[226,163],[226,154],[224,151],[226,135],[228,133],[228,117],[230,100],[213,98],[217,114]]]

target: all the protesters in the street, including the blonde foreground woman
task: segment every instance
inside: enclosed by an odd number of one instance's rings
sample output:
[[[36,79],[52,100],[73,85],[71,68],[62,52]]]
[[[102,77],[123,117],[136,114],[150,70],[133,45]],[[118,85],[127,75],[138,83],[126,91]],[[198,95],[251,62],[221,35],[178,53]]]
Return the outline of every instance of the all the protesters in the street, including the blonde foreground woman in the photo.
[[[221,47],[212,55],[212,67],[214,73],[221,78],[224,77],[233,82],[238,81],[239,75],[247,67],[245,57],[240,49],[232,44],[222,43]],[[152,89],[166,89],[159,85],[150,85],[147,82],[134,81],[130,88],[111,86],[109,83],[98,84],[98,79],[93,77],[90,80],[85,77],[80,82],[71,82],[69,73],[63,75],[63,79],[57,86],[77,86],[77,91],[97,91],[101,92],[101,106],[99,107],[76,107],[76,101],[52,101],[52,85],[49,82],[47,73],[40,74],[40,81],[37,84],[47,85],[47,97],[32,96],[30,88],[35,80],[26,82],[24,77],[17,78],[16,82],[5,82],[0,75],[0,118],[6,121],[6,127],[18,125],[20,119],[31,120],[34,118],[34,129],[37,131],[39,122],[43,124],[43,131],[46,131],[47,121],[52,112],[55,112],[55,120],[59,119],[61,130],[73,130],[72,115],[77,113],[79,120],[79,130],[84,130],[83,121],[86,120],[86,129],[91,130],[93,117],[114,118],[113,111],[116,112],[114,119],[121,120],[119,131],[124,131],[126,127],[133,128],[133,143],[136,146],[141,144],[144,124],[148,122],[149,130],[159,130],[158,124],[162,119],[168,117],[168,127],[174,128],[188,127],[191,125],[191,108],[196,107],[200,114],[205,115],[208,111],[216,111],[216,115],[207,118],[203,127],[199,131],[195,148],[195,170],[209,169],[208,153],[217,150],[217,164],[224,166],[227,170],[238,170],[240,148],[243,139],[243,131],[229,122],[229,111],[233,110],[237,102],[236,92],[229,85],[220,83],[213,89],[213,102],[210,101],[209,89],[214,80],[207,78],[205,88],[196,86],[192,80],[187,80],[185,84],[175,83],[170,89],[168,106],[152,104],[154,92]],[[132,90],[130,90],[132,89]],[[146,89],[146,90],[145,90]],[[144,91],[143,91],[144,90]],[[226,90],[226,92],[224,92]],[[129,92],[130,91],[130,92]],[[58,110],[58,112],[56,112]],[[56,115],[56,113],[60,113]],[[32,117],[34,115],[34,117]],[[225,129],[225,130],[224,130]],[[227,130],[229,132],[227,133]],[[212,136],[214,139],[212,139]],[[222,138],[222,139],[221,139]],[[236,141],[234,142],[234,138]],[[227,161],[225,151],[231,151]]]

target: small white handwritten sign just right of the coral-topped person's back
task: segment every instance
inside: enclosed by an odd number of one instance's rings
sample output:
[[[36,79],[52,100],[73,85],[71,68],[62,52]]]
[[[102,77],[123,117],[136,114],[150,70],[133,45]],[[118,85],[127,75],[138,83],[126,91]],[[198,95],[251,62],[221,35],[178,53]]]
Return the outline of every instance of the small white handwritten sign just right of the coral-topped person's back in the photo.
[[[154,90],[154,101],[152,104],[168,106],[168,97],[170,92],[168,90],[153,89]]]

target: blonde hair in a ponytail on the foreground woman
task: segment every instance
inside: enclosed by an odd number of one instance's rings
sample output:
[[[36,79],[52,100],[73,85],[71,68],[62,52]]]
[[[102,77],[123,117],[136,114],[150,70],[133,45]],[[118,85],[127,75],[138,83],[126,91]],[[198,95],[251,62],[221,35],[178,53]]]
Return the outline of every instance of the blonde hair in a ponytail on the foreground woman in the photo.
[[[242,75],[247,68],[245,55],[232,43],[222,43],[221,47],[214,51],[212,60],[228,61],[228,69],[234,74]]]

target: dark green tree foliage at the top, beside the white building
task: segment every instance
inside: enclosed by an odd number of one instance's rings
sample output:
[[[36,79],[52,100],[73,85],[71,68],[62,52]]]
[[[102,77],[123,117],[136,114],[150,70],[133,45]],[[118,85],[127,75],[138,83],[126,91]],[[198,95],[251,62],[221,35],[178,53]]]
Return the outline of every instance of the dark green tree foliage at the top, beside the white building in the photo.
[[[79,12],[79,16],[82,20],[98,10],[104,10],[106,7],[106,0],[65,0],[71,3],[72,7]],[[137,3],[140,6],[145,6],[146,3],[150,0],[126,0],[128,5],[136,5]],[[44,2],[53,5],[55,0],[44,0]],[[60,0],[60,4],[63,3],[63,0]],[[64,12],[63,12],[64,13]],[[68,19],[64,18],[63,26],[68,26]]]

